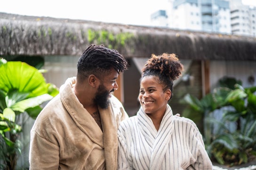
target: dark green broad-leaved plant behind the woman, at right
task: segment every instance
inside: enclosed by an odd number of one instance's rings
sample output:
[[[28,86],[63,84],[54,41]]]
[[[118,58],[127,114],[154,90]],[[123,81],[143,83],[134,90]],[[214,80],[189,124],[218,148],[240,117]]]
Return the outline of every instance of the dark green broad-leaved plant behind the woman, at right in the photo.
[[[197,99],[187,94],[183,116],[203,118],[203,137],[208,155],[220,164],[239,165],[256,156],[256,87],[243,88],[240,81],[224,77],[224,87]]]

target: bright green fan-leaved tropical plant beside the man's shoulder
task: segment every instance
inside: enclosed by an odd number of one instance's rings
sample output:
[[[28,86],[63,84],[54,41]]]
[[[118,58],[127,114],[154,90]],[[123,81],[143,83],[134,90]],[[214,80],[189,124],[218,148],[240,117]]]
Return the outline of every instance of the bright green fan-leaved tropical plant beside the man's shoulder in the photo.
[[[46,83],[40,70],[21,61],[0,59],[0,73],[0,168],[15,170],[22,131],[17,115],[36,118],[42,110],[40,104],[56,96],[58,89]]]

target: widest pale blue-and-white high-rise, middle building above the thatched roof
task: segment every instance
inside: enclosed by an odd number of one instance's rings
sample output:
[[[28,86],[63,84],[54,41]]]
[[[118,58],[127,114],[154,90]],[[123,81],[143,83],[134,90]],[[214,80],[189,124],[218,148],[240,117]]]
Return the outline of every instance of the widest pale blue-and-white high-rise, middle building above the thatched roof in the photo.
[[[226,0],[174,0],[170,28],[231,34]]]

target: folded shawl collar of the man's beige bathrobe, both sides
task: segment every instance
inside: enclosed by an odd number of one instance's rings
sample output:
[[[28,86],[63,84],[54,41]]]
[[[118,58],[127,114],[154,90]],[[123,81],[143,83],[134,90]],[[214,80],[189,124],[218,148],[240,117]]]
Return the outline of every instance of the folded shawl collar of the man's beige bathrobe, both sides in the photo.
[[[103,132],[89,112],[79,102],[75,96],[72,86],[75,77],[68,79],[60,88],[61,101],[78,126],[93,142],[104,148],[105,163],[107,170],[117,169],[117,127],[113,118],[112,103],[107,109],[98,107],[100,112]]]

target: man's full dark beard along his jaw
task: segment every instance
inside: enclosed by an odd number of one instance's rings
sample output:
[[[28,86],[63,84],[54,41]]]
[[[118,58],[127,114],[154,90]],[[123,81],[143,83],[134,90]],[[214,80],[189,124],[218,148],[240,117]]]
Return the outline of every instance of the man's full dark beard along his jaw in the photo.
[[[112,92],[114,90],[111,90]],[[104,87],[103,84],[99,85],[96,96],[94,97],[94,102],[98,104],[102,109],[106,109],[110,103],[108,90]]]

